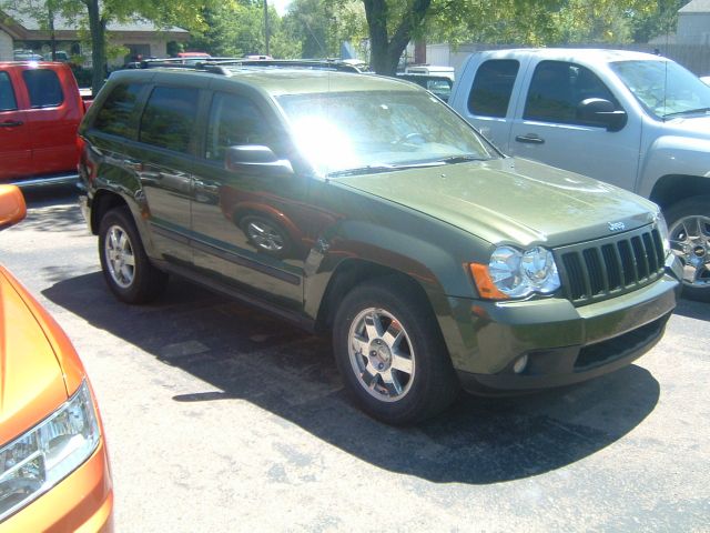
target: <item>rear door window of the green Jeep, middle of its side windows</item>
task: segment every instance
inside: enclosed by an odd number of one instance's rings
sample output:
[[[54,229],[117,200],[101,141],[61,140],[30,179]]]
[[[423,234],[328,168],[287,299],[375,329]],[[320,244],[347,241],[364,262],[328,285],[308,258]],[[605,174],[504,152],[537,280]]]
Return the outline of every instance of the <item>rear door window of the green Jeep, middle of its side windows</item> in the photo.
[[[176,152],[189,152],[197,111],[197,89],[156,87],[141,119],[140,140]]]

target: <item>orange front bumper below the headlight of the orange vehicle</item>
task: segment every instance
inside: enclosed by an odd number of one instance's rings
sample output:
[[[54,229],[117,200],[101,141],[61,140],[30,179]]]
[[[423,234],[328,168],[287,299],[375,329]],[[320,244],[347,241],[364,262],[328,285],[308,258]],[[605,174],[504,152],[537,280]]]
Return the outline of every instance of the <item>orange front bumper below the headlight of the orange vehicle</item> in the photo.
[[[1,522],[0,532],[112,532],[113,487],[105,450],[102,439],[81,466]]]

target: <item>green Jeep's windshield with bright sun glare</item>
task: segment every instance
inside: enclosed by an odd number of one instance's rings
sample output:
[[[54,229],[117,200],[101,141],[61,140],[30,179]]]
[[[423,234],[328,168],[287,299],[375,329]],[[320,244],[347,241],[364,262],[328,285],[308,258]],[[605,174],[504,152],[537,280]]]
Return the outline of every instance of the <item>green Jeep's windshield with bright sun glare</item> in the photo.
[[[323,175],[499,157],[465,121],[424,91],[288,94],[277,101],[296,143]]]

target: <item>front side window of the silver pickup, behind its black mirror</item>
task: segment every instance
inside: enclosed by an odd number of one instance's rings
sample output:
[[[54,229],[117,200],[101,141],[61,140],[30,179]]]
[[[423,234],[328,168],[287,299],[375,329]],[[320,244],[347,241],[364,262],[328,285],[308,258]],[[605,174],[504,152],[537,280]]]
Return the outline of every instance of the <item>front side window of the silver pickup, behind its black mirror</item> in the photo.
[[[588,98],[609,100],[619,109],[609,89],[589,69],[562,61],[541,61],[532,73],[523,118],[565,124],[598,125],[585,122],[578,117],[579,104]]]

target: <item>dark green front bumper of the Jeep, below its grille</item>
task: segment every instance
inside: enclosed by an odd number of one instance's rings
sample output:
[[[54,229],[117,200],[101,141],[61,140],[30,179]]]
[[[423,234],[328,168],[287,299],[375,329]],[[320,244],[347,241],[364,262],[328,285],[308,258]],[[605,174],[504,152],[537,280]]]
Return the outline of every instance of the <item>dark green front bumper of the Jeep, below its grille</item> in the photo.
[[[465,390],[534,391],[596,378],[641,356],[661,339],[680,288],[669,270],[642,289],[578,308],[560,298],[449,298],[454,320],[440,324]],[[515,372],[525,355],[525,370]]]

